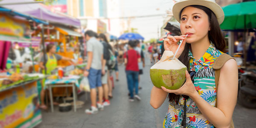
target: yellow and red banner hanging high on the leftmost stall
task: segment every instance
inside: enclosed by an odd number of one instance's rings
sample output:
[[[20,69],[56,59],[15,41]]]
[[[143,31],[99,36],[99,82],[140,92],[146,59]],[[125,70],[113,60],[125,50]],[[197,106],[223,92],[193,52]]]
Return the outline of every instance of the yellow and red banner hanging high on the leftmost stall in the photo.
[[[30,38],[29,23],[0,13],[0,35]]]

